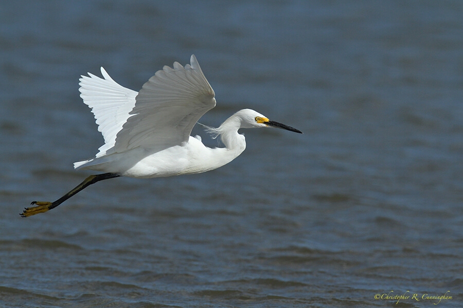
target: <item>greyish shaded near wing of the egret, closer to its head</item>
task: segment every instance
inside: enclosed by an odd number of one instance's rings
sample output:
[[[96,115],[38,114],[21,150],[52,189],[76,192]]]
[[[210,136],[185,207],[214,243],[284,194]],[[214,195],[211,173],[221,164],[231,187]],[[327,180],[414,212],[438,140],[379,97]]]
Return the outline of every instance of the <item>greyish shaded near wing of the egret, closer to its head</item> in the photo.
[[[143,85],[131,117],[117,133],[115,151],[162,149],[188,140],[195,123],[216,106],[214,91],[194,55],[191,64],[164,66]]]

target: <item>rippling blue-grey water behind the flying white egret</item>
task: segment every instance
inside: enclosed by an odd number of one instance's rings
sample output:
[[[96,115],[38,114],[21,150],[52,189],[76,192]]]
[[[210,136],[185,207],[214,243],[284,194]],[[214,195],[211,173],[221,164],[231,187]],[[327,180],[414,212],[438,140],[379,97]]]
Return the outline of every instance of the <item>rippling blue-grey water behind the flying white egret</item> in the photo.
[[[374,307],[405,294],[397,306],[430,307],[423,294],[449,291],[439,306],[460,306],[462,15],[459,1],[3,2],[0,305]],[[243,130],[246,150],[220,169],[108,180],[19,217],[91,174],[72,167],[103,142],[81,74],[104,66],[139,90],[192,53],[218,101],[202,123],[252,108],[305,134]]]

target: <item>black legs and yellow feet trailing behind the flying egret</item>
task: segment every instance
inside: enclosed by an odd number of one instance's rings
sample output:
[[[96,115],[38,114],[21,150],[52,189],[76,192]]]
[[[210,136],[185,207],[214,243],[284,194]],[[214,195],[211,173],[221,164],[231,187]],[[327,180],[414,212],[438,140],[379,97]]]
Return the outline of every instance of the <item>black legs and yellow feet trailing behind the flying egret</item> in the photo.
[[[79,191],[81,191],[88,185],[95,184],[96,182],[101,181],[101,180],[112,179],[112,178],[117,178],[117,177],[120,177],[120,175],[113,174],[113,173],[105,173],[101,175],[90,176],[86,178],[82,183],[77,185],[74,189],[70,190],[66,195],[56,200],[55,202],[33,201],[31,205],[35,204],[36,206],[26,207],[23,213],[21,213],[20,215],[22,217],[29,217],[35,214],[45,213],[46,211],[57,207],[58,205],[60,205],[61,203],[69,199],[70,197],[76,195]]]

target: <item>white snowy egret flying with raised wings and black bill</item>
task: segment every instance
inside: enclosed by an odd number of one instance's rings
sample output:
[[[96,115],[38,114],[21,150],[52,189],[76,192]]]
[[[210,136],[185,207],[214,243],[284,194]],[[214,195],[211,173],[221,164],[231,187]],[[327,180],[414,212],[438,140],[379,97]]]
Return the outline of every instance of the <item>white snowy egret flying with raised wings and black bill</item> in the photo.
[[[104,145],[95,158],[74,163],[76,169],[91,169],[92,175],[55,202],[33,201],[22,217],[57,207],[88,185],[120,176],[158,178],[197,174],[219,168],[237,158],[246,147],[240,128],[277,127],[301,131],[270,121],[264,115],[243,109],[219,127],[207,127],[212,138],[220,136],[223,148],[209,148],[201,138],[191,137],[193,126],[216,106],[214,90],[198,61],[164,66],[143,85],[140,92],[117,84],[101,68],[103,78],[88,73],[80,79],[80,97],[95,115]]]

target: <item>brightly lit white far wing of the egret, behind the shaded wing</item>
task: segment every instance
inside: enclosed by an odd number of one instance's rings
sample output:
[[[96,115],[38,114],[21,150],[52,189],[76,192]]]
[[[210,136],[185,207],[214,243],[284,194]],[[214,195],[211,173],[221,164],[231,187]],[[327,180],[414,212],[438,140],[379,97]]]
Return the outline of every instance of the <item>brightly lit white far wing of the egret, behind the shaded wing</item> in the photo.
[[[80,97],[92,108],[98,131],[103,134],[104,145],[98,149],[96,157],[105,155],[106,151],[114,147],[116,134],[130,117],[129,112],[135,106],[138,94],[116,83],[104,68],[101,68],[101,74],[104,79],[91,73],[79,79]]]

